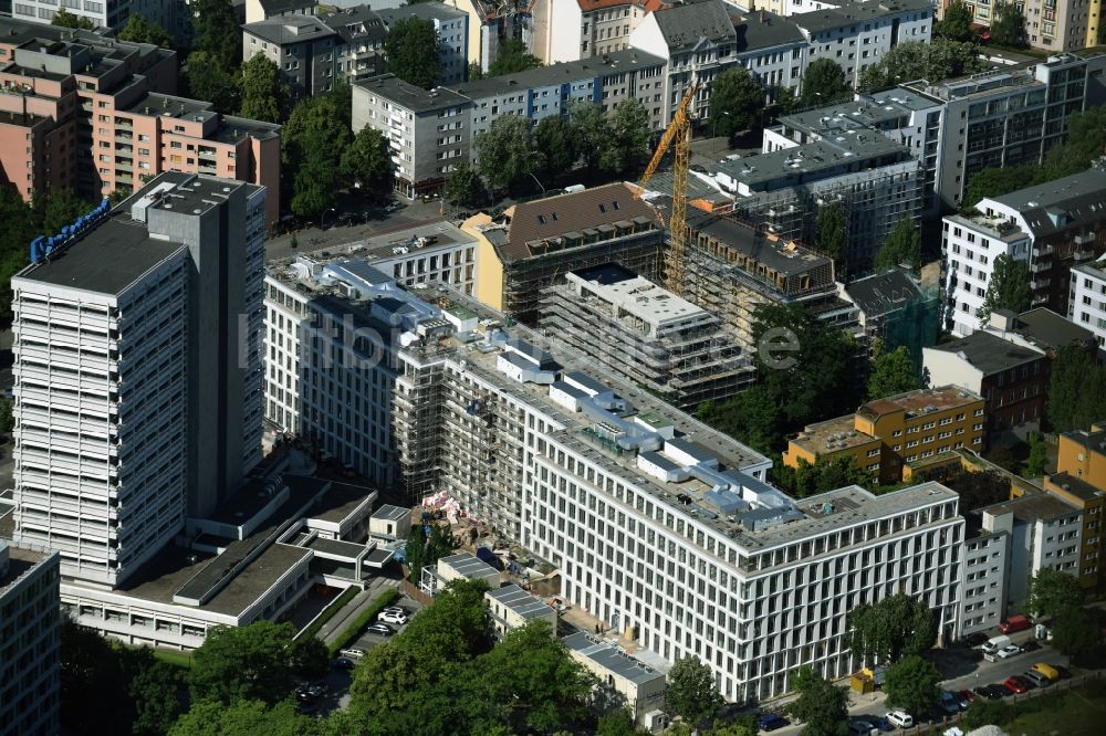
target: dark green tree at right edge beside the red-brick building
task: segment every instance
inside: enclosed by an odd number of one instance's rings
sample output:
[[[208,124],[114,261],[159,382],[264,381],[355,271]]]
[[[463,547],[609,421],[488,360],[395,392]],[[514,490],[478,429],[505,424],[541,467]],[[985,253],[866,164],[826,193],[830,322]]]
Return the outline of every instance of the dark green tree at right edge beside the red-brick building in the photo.
[[[1045,417],[1057,432],[1085,429],[1106,417],[1106,367],[1086,349],[1065,345],[1048,374]]]

